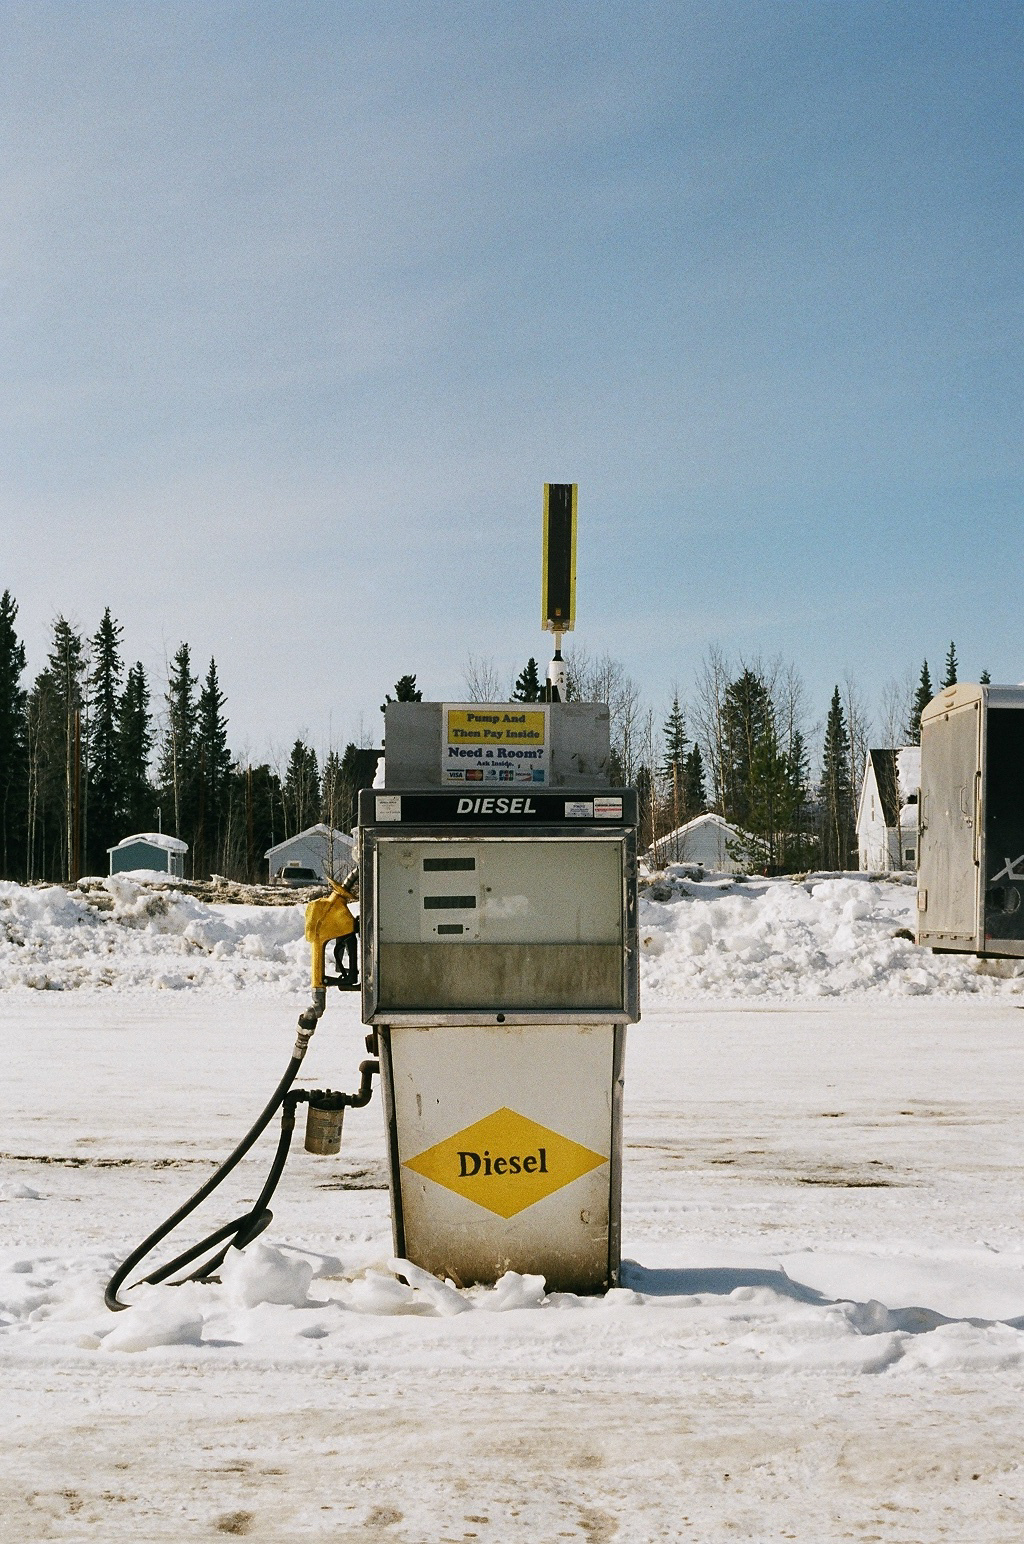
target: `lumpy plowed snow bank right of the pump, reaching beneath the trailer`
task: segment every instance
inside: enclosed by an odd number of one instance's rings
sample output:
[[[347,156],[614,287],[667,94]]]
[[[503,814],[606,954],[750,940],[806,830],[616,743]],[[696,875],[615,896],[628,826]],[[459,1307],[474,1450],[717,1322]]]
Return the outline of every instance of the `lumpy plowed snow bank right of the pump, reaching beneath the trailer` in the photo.
[[[917,948],[905,936],[914,903],[913,888],[866,879],[732,885],[669,875],[641,897],[644,988],[718,999],[1024,990],[1013,965],[999,979],[975,956]]]

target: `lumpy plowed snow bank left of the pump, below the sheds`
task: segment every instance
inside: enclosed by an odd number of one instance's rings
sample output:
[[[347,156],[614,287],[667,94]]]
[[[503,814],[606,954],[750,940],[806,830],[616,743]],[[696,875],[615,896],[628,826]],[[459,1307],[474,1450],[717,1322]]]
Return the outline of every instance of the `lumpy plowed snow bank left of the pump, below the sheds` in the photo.
[[[307,977],[301,903],[207,905],[125,874],[86,894],[0,882],[0,988],[292,991]]]

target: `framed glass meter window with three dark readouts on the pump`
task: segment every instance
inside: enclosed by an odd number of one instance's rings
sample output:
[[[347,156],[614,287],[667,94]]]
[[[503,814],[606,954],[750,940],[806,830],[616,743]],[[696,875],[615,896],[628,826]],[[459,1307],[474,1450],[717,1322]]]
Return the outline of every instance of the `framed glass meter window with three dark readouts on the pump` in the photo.
[[[377,1005],[624,1005],[622,838],[381,840]]]

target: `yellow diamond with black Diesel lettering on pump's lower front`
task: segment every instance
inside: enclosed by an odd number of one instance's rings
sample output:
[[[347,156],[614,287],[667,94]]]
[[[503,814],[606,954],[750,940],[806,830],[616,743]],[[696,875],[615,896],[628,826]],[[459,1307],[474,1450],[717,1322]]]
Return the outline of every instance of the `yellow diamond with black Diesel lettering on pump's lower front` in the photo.
[[[607,1163],[547,1126],[500,1109],[405,1164],[499,1217],[514,1217]]]

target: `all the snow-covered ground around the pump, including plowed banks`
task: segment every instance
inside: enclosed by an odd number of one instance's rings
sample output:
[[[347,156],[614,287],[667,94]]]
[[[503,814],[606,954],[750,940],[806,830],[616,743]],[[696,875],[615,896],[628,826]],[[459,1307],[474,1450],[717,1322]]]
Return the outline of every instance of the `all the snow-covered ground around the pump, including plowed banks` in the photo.
[[[659,894],[619,1291],[403,1286],[374,1099],[221,1286],[110,1315],[287,1061],[301,909],[0,886],[5,1544],[1016,1544],[1024,979],[894,937],[902,886]],[[335,997],[303,1081],[363,1055]]]

